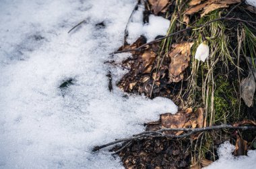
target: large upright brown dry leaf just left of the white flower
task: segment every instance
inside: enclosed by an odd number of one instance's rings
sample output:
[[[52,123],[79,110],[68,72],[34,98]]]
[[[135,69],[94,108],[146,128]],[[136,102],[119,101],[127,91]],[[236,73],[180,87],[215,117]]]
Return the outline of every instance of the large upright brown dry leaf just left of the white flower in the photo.
[[[169,82],[179,82],[184,78],[183,72],[189,66],[190,48],[193,43],[182,42],[172,45],[172,50],[168,54],[169,64]]]

